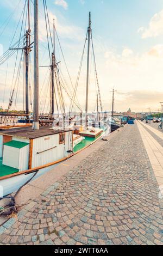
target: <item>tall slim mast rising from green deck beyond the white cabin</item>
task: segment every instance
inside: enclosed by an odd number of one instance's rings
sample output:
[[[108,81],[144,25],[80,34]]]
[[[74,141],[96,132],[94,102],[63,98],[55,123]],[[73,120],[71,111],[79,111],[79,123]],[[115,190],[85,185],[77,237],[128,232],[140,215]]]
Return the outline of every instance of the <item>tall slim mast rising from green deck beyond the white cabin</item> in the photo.
[[[87,28],[88,46],[87,46],[87,76],[86,76],[86,103],[85,103],[86,126],[87,126],[88,93],[89,93],[90,38],[91,38],[91,12],[89,13],[89,27]]]

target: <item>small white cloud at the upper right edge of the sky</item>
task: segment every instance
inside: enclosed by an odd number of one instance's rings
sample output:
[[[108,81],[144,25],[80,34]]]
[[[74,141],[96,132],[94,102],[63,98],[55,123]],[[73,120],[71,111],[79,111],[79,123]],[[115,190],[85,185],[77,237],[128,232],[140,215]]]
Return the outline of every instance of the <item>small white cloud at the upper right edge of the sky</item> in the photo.
[[[140,27],[138,33],[142,33],[142,38],[151,38],[163,34],[163,10],[156,13],[149,22],[148,28]]]

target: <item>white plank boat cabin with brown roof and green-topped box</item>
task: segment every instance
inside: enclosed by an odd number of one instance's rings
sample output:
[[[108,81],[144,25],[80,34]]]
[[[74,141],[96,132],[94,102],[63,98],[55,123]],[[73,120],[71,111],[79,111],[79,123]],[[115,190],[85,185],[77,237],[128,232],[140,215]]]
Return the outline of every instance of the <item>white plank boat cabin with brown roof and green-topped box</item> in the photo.
[[[0,130],[0,176],[3,167],[28,170],[51,164],[73,152],[73,130],[31,127]],[[13,171],[13,169],[12,169]],[[3,170],[4,172],[4,170]]]

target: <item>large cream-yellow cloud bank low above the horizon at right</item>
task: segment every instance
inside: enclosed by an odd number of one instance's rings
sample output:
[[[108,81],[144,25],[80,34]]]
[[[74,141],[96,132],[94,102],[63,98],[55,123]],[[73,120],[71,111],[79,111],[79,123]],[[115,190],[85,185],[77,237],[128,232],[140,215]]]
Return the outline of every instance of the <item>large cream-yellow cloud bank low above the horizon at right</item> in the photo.
[[[163,99],[163,44],[154,45],[142,54],[129,48],[119,53],[114,48],[106,51],[104,57],[105,66],[98,62],[98,74],[105,109],[108,109],[108,102],[111,109],[111,94],[109,99],[106,95],[114,86],[117,90],[117,111],[126,111],[129,107],[133,111],[146,111],[148,107],[155,111],[159,108],[159,102]]]

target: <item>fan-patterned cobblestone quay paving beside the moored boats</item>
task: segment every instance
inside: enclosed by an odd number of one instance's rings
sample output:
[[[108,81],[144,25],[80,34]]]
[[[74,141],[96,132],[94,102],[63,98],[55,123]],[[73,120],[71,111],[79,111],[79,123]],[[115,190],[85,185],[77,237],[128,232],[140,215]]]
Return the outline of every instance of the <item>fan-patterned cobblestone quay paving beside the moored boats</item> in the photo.
[[[128,125],[0,227],[0,243],[162,245],[158,193],[137,125]]]

